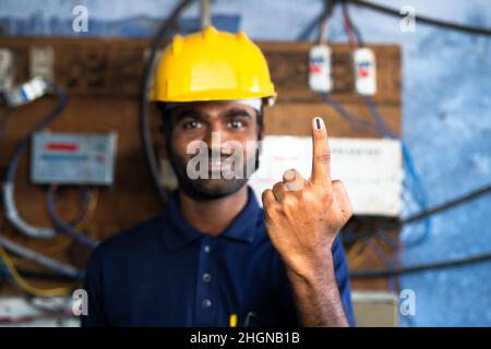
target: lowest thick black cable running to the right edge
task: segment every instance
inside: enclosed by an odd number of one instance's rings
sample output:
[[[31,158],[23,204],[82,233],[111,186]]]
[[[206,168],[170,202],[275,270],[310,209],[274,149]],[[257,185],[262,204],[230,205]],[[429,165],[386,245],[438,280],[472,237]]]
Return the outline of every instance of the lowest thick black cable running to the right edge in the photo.
[[[350,277],[354,279],[374,279],[386,278],[399,275],[416,274],[428,270],[439,270],[444,268],[453,268],[469,264],[483,263],[491,261],[491,252],[477,254],[470,257],[465,257],[454,261],[435,262],[428,264],[411,265],[405,267],[395,267],[388,269],[373,269],[373,270],[354,270],[350,272]]]

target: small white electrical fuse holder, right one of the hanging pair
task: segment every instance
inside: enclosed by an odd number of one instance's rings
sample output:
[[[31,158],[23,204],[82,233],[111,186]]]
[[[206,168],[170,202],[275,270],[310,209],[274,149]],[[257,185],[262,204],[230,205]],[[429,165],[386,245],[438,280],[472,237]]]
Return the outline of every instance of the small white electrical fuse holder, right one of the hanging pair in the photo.
[[[375,55],[369,48],[358,48],[354,56],[355,88],[363,96],[373,96],[376,93],[376,64]]]

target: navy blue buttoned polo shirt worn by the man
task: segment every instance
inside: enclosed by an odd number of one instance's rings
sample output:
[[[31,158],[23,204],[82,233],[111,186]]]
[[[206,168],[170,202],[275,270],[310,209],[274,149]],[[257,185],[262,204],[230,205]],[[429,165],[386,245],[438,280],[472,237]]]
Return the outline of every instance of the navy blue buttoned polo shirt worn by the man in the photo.
[[[348,268],[339,238],[332,248],[336,280],[354,325]],[[165,212],[97,246],[84,288],[82,326],[296,326],[285,265],[263,209],[249,189],[246,207],[218,237],[189,226],[177,194]]]

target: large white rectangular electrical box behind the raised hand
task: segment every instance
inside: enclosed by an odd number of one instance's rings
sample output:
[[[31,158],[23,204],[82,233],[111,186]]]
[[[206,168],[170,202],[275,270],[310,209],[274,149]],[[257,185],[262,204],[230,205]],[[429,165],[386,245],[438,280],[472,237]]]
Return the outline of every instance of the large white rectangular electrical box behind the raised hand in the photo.
[[[402,210],[403,155],[397,140],[330,137],[332,179],[342,180],[356,215],[397,217]],[[264,190],[282,181],[283,173],[297,169],[311,176],[312,139],[266,136],[260,168],[250,185],[259,201]]]

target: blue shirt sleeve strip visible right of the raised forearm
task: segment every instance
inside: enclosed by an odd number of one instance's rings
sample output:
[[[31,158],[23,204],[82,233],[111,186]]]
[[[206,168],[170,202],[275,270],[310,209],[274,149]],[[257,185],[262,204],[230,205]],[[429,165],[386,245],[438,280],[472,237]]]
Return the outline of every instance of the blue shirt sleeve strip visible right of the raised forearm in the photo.
[[[337,287],[339,289],[339,296],[343,302],[343,308],[345,310],[345,314],[346,317],[348,318],[349,325],[354,327],[355,315],[352,312],[352,304],[351,304],[348,263],[346,262],[345,251],[343,249],[343,243],[339,234],[334,240],[331,251],[333,255],[334,273],[336,277]]]

